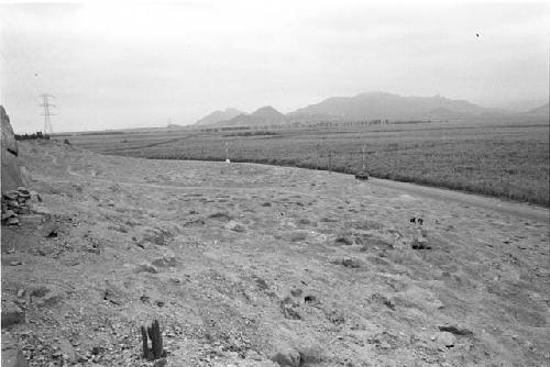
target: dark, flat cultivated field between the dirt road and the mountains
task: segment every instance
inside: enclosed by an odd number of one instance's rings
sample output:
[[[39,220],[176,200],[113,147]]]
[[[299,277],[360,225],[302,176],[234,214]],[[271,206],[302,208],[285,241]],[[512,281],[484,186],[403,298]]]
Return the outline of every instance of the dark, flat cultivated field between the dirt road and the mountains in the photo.
[[[549,205],[544,121],[417,123],[241,131],[86,134],[95,152],[162,159],[254,162],[438,186]],[[364,148],[364,154],[363,154]]]

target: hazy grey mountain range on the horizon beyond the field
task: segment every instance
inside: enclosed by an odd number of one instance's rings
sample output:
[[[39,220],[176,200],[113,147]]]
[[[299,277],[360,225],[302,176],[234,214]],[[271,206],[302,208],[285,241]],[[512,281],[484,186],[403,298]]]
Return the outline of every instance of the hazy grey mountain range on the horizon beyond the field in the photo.
[[[402,97],[385,92],[367,92],[354,97],[331,97],[319,103],[283,114],[273,107],[263,107],[250,114],[235,109],[216,111],[200,119],[198,125],[251,126],[320,121],[364,120],[457,120],[474,116],[514,115],[515,112],[484,108],[465,100],[440,96]],[[548,115],[549,104],[522,114]]]

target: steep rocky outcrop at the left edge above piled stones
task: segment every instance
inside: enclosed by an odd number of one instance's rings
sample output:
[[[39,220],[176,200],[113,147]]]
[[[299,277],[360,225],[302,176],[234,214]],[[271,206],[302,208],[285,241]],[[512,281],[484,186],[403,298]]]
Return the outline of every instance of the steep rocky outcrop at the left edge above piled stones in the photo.
[[[0,105],[0,119],[2,123],[2,193],[24,186],[21,169],[18,164],[18,142],[10,124],[10,116]]]

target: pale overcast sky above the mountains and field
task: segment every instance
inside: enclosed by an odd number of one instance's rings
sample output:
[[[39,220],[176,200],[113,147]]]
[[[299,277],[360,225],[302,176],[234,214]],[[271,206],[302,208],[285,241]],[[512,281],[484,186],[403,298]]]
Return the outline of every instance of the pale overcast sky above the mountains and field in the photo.
[[[0,99],[14,130],[194,123],[382,90],[548,101],[550,5],[189,1],[0,5]],[[476,33],[480,36],[476,36]],[[512,105],[512,104],[510,104]]]

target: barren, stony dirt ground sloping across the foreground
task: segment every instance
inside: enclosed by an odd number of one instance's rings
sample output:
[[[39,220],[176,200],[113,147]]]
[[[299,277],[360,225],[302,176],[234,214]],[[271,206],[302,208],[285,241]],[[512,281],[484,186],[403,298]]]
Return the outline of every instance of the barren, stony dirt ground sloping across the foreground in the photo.
[[[31,365],[151,365],[139,327],[154,319],[167,366],[549,364],[548,210],[327,171],[20,149],[46,210],[2,227],[2,303],[26,314],[2,336]]]

